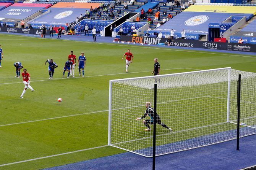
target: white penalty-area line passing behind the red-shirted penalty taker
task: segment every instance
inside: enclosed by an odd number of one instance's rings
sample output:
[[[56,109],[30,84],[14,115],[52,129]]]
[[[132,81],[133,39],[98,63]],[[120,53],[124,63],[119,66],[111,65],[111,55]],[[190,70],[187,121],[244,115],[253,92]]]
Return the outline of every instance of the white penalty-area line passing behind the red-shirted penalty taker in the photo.
[[[170,68],[170,69],[162,69],[162,70],[178,70],[178,69],[199,70],[199,69],[195,69],[195,68]],[[124,75],[124,74],[144,73],[144,72],[149,72],[149,71],[137,71],[137,72],[130,72],[130,73],[116,73],[116,74],[109,74],[109,75],[95,75],[95,76],[85,76],[85,77],[75,77],[75,78],[88,78],[88,77],[99,77],[99,76]],[[54,78],[54,79],[51,79],[51,80],[49,80],[48,78],[45,78],[44,80],[36,80],[36,81],[30,81],[30,82],[53,81],[53,80],[58,80],[58,79],[66,79],[66,78]],[[71,78],[71,79],[74,79],[74,78]],[[23,83],[23,82],[20,81],[20,82],[13,82],[13,83],[1,83],[0,85],[3,85],[3,84],[17,84],[17,83]]]

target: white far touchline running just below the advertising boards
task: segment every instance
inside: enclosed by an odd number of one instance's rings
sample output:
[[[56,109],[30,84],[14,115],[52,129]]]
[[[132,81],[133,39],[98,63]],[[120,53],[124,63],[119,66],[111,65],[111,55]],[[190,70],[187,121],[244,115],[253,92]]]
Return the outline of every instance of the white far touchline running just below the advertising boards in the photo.
[[[0,34],[1,35],[1,34]],[[19,37],[18,35],[5,35],[4,36],[13,36],[13,37]],[[35,37],[35,39],[40,39],[40,40],[56,40],[59,41],[58,39],[51,39],[51,38],[44,38],[41,39],[39,37]],[[72,41],[74,42],[75,40],[62,40],[62,41]],[[94,42],[90,42],[90,41],[75,41],[75,42],[79,42],[79,43],[94,43]],[[95,44],[95,43],[94,43]],[[97,43],[97,44],[104,44],[104,45],[113,45],[113,46],[128,46],[128,45],[122,45],[122,44],[114,44],[114,43]],[[196,49],[187,49],[187,50],[180,50],[180,49],[173,49],[173,48],[156,48],[156,47],[149,47],[149,46],[139,46],[138,44],[136,45],[132,45],[134,48],[151,48],[151,49],[161,49],[161,50],[169,50],[169,51],[182,51],[182,52],[191,52],[193,51],[193,53],[202,53],[202,54],[216,54],[216,55],[222,55],[222,56],[236,56],[236,57],[248,57],[248,58],[256,58],[254,56],[242,56],[242,55],[234,55],[234,54],[223,54],[225,53],[225,51],[220,52],[220,53],[214,53],[214,52],[201,52],[201,51],[196,51]],[[253,55],[253,54],[251,54]]]

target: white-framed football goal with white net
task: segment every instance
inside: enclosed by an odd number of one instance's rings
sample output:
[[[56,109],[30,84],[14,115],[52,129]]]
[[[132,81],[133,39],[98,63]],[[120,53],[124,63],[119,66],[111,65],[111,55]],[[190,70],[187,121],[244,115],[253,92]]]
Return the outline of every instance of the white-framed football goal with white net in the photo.
[[[236,138],[237,80],[241,74],[240,137],[256,133],[256,73],[218,68],[110,80],[109,145],[152,157],[153,130],[142,117],[146,102],[172,132],[157,124],[156,156]],[[150,125],[153,127],[153,125]],[[153,129],[153,128],[152,128]]]

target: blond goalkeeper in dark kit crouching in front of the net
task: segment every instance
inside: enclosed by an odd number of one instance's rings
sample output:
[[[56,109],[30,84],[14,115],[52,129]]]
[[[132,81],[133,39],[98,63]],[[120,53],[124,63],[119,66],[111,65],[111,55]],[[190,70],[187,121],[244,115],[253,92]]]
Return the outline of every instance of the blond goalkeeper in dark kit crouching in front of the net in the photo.
[[[136,118],[136,121],[138,121],[140,119],[144,119],[146,116],[150,116],[151,119],[143,120],[143,123],[147,127],[147,129],[145,129],[145,130],[150,131],[151,128],[150,128],[149,124],[153,124],[154,110],[153,110],[153,108],[151,108],[151,103],[150,102],[146,102],[146,108],[147,109],[146,109],[144,115],[141,118]],[[164,123],[161,122],[161,118],[157,113],[156,113],[156,123],[160,124],[162,127],[165,127],[166,129],[169,129],[170,131],[172,131],[171,128],[169,128],[168,126],[166,126]]]

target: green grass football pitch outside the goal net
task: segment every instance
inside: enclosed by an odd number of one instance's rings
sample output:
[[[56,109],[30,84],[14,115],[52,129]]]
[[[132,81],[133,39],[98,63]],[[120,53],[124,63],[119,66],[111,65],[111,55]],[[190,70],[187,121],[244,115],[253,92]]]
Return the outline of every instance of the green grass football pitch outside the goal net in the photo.
[[[222,67],[256,72],[253,55],[5,34],[0,44],[0,170],[37,170],[125,152],[107,146],[109,80],[151,76],[155,57],[161,75]],[[127,49],[134,56],[128,73],[122,61]],[[84,77],[78,66],[75,78],[62,77],[71,50],[77,58],[85,53]],[[58,64],[51,80],[47,59]],[[22,78],[15,78],[17,61],[35,90],[28,89],[24,99]]]

